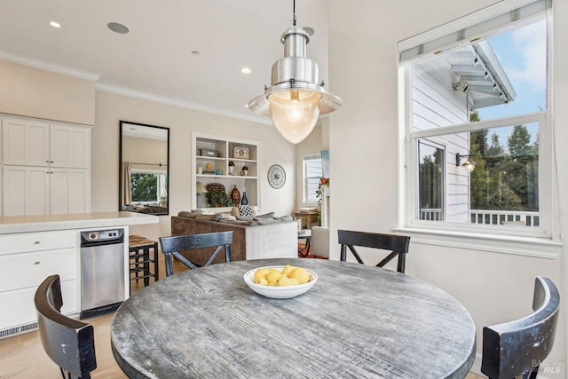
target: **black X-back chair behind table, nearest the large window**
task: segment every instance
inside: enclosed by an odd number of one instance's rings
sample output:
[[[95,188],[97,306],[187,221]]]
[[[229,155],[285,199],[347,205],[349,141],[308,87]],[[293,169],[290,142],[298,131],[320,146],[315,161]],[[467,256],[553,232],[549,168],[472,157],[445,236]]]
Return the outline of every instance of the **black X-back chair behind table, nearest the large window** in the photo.
[[[397,271],[405,272],[406,254],[408,253],[410,237],[395,234],[353,232],[349,230],[338,230],[337,234],[339,237],[338,241],[341,244],[341,261],[347,260],[347,249],[350,249],[357,262],[364,265],[363,260],[355,250],[355,246],[389,250],[390,254],[376,266],[383,267],[394,257],[398,256]]]

